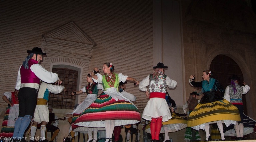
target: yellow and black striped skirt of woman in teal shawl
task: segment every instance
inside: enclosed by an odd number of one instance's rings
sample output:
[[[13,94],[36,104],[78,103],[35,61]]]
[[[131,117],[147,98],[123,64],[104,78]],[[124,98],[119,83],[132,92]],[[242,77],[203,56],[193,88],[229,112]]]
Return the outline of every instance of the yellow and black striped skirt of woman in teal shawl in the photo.
[[[187,126],[195,130],[200,128],[204,130],[205,123],[218,120],[223,120],[226,126],[236,124],[236,121],[240,121],[239,111],[225,99],[205,104],[199,103],[189,114]]]

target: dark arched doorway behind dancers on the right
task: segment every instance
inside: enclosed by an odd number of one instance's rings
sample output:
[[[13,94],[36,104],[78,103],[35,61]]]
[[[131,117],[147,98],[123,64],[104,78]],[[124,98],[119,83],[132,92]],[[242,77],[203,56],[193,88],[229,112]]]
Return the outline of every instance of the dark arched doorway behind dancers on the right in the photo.
[[[232,58],[225,55],[217,55],[212,60],[210,71],[212,71],[213,74],[212,78],[217,79],[224,89],[230,85],[228,77],[232,76],[232,74],[236,74],[240,78],[239,85],[242,85],[244,80],[243,73],[238,64]],[[244,113],[247,114],[246,99],[244,95],[242,100],[244,104]]]

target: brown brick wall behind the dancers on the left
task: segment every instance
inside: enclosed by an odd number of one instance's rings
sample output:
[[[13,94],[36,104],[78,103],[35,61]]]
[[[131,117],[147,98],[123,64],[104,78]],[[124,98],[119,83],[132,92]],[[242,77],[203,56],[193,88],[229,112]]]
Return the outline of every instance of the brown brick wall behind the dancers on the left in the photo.
[[[121,72],[140,81],[152,72],[153,17],[150,1],[3,1],[0,9],[0,96],[14,90],[26,51],[36,46],[47,53],[42,64],[47,70],[55,62],[53,58],[86,60],[81,87],[87,84],[85,76],[88,72],[93,67],[102,68],[105,62],[112,62],[116,73]],[[68,46],[50,45],[42,38],[44,33],[69,21],[74,21],[96,46],[84,52],[78,46],[70,49]],[[67,33],[66,41],[79,42],[72,36],[71,32]],[[52,47],[59,52],[51,53]],[[91,58],[87,59],[88,56]],[[137,106],[142,112],[147,102],[145,93],[133,83],[128,83],[127,91],[137,96]],[[81,96],[81,100],[84,98]],[[6,107],[3,100],[0,103]]]

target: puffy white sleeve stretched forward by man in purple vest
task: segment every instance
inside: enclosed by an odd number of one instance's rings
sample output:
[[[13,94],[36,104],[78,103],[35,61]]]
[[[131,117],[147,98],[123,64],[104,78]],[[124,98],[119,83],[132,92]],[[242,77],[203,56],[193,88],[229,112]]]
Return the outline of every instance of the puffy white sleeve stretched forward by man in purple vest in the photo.
[[[30,70],[42,81],[47,83],[54,83],[59,80],[58,74],[49,72],[39,64],[33,64]]]

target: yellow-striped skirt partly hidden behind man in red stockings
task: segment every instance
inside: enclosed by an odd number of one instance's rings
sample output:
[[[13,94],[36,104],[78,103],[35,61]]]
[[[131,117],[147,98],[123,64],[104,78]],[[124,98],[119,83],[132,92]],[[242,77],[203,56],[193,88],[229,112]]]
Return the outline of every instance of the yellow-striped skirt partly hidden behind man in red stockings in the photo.
[[[187,127],[187,120],[184,118],[179,117],[175,113],[172,113],[172,118],[166,122],[162,122],[163,125],[167,126],[167,131],[169,132],[176,132],[182,130]],[[147,124],[145,128],[145,132],[150,133],[150,123]],[[164,133],[164,127],[161,128],[160,133]]]

